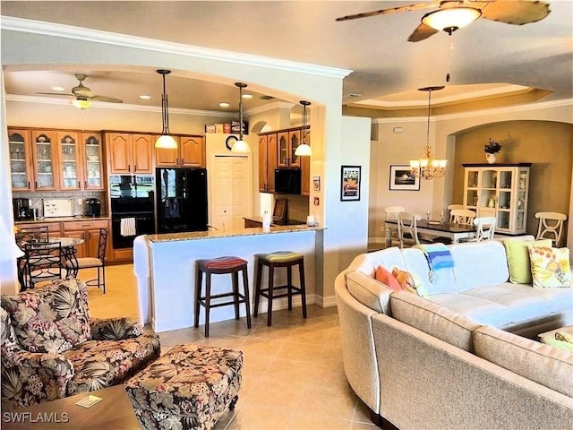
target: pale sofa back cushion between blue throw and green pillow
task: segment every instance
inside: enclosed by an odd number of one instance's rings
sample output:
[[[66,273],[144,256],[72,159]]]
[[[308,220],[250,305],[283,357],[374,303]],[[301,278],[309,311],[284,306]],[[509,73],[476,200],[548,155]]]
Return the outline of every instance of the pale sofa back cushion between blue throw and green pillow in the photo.
[[[509,279],[505,248],[500,242],[485,240],[476,244],[450,245],[449,252],[454,258],[458,292]]]

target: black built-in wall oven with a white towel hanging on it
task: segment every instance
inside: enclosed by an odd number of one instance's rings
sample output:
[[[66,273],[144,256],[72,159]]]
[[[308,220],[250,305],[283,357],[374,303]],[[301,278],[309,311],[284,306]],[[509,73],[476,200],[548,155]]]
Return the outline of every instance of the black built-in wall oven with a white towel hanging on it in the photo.
[[[109,176],[114,249],[133,247],[139,235],[155,233],[153,175]]]

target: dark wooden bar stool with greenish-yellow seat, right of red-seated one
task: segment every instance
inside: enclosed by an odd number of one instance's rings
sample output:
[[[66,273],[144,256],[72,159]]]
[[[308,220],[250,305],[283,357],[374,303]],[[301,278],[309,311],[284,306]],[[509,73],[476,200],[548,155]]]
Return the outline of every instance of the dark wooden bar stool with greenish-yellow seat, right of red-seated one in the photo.
[[[303,318],[306,318],[306,286],[304,284],[304,255],[291,251],[278,251],[270,254],[256,254],[256,278],[254,293],[254,314],[256,318],[259,314],[259,300],[267,297],[269,300],[269,310],[267,311],[267,325],[271,325],[272,320],[272,300],[273,298],[288,297],[288,310],[293,310],[293,296],[300,294],[303,300]],[[293,266],[298,264],[300,276],[300,287],[293,285]],[[262,267],[269,267],[269,287],[261,288]],[[276,267],[286,267],[286,285],[274,285],[274,272]],[[286,290],[284,293],[275,294],[277,291]]]

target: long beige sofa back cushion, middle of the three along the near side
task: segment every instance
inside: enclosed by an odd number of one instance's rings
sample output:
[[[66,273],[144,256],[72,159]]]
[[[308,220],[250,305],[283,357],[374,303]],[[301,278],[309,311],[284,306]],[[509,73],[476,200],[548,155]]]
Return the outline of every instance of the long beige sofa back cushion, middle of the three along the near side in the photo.
[[[390,297],[392,316],[455,347],[473,351],[472,333],[480,324],[423,297],[401,291]]]

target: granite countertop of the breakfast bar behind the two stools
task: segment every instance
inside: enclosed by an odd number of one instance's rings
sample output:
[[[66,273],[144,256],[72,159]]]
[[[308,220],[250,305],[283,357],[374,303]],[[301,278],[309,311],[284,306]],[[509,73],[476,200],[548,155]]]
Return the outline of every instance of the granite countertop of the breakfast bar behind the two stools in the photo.
[[[298,226],[276,226],[271,227],[270,231],[262,231],[262,228],[242,228],[230,231],[210,230],[210,231],[191,231],[187,233],[167,233],[163,235],[147,235],[147,239],[152,243],[161,242],[178,242],[183,240],[198,240],[198,239],[216,239],[221,237],[235,237],[235,236],[259,236],[259,235],[272,235],[277,233],[296,233],[300,231],[317,231],[323,230],[320,227],[308,227],[306,224]]]

